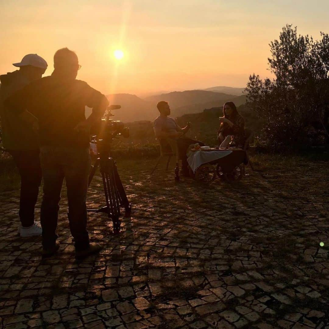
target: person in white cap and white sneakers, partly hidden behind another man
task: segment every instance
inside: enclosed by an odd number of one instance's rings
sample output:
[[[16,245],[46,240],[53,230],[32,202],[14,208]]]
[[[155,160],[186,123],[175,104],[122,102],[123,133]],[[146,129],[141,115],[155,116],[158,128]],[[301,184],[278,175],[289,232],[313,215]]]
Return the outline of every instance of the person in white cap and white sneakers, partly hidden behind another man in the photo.
[[[38,135],[32,126],[12,114],[12,108],[4,104],[5,99],[30,82],[40,79],[47,62],[37,54],[28,54],[20,63],[13,63],[19,70],[0,76],[0,118],[2,142],[12,155],[21,177],[19,218],[21,237],[39,236],[41,225],[34,221],[34,209],[41,183]]]

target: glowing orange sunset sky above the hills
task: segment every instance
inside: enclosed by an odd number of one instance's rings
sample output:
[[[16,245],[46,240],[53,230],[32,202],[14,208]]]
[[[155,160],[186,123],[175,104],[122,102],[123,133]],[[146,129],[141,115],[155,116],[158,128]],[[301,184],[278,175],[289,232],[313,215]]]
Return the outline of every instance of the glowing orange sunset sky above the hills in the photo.
[[[319,38],[328,0],[0,0],[0,73],[37,53],[74,50],[78,79],[105,94],[244,87],[269,76],[269,41],[286,23]],[[114,57],[122,50],[124,57]]]

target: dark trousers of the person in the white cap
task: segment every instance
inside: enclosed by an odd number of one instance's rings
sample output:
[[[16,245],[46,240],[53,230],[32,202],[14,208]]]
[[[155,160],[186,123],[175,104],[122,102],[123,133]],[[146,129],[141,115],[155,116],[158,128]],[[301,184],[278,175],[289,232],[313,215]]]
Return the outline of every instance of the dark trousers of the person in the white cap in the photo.
[[[19,218],[22,226],[34,223],[34,208],[41,184],[39,150],[9,150],[21,178]]]

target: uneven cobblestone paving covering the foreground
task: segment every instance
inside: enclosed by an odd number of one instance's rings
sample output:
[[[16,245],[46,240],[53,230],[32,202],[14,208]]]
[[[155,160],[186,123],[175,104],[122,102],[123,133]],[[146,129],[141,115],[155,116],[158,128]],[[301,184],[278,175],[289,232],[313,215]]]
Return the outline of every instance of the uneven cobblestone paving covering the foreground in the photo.
[[[329,328],[327,163],[204,187],[161,169],[151,183],[154,162],[119,163],[132,215],[113,237],[90,214],[103,250],[81,263],[65,195],[46,260],[40,238],[16,236],[18,191],[0,196],[0,327]],[[104,202],[100,183],[89,206]]]

